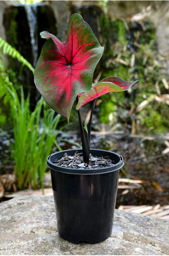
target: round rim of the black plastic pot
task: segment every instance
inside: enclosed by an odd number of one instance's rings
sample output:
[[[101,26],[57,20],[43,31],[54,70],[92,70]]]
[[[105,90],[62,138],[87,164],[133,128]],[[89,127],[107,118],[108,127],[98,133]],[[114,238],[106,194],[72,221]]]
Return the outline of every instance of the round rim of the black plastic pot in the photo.
[[[92,174],[104,174],[104,173],[111,173],[113,171],[119,170],[121,167],[124,165],[123,157],[115,152],[107,151],[107,150],[98,150],[98,149],[90,149],[90,152],[92,154],[97,154],[99,152],[103,152],[103,155],[106,156],[108,153],[109,155],[114,155],[114,158],[118,161],[114,165],[110,165],[108,167],[103,167],[103,168],[97,168],[97,169],[82,169],[82,168],[68,168],[68,167],[62,167],[59,165],[54,164],[55,156],[64,155],[64,153],[70,153],[69,155],[73,155],[76,152],[82,152],[82,149],[75,149],[75,150],[62,150],[55,152],[47,157],[46,165],[49,167],[51,170],[58,171],[60,173],[67,173],[67,174],[77,174],[77,175],[92,175]],[[99,156],[99,155],[98,155]]]

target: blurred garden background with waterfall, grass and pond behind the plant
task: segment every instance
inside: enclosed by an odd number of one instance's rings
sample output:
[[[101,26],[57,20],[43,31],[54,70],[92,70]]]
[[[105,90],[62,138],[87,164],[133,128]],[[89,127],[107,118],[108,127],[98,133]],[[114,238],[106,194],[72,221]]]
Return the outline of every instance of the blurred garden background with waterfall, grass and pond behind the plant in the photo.
[[[65,41],[73,13],[104,46],[93,81],[139,80],[127,92],[101,96],[94,110],[91,148],[115,151],[125,161],[116,208],[168,218],[169,1],[0,1],[1,200],[52,193],[46,157],[80,146],[75,106],[68,125],[33,81],[45,42],[39,33]],[[90,107],[82,107],[83,121]]]

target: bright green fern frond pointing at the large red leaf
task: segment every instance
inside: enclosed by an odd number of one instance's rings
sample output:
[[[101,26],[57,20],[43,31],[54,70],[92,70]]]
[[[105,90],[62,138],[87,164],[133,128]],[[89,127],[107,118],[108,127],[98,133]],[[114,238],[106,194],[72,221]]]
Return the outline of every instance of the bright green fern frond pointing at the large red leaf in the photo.
[[[34,74],[34,68],[32,65],[14,47],[12,47],[9,43],[0,37],[0,49],[1,48],[4,55],[8,55],[14,59],[17,59],[19,62],[23,63],[23,65],[27,66]]]

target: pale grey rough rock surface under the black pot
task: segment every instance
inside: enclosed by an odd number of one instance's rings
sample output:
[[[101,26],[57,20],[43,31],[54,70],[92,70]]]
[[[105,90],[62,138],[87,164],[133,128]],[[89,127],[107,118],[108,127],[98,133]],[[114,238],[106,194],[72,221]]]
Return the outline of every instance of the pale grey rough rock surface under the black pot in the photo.
[[[0,255],[168,255],[169,222],[115,210],[113,233],[97,244],[59,237],[51,196],[19,196],[0,203]]]

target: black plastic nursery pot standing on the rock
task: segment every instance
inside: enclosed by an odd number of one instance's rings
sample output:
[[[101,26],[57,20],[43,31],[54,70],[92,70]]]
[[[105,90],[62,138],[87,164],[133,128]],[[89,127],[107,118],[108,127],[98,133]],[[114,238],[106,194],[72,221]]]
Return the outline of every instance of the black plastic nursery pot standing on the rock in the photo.
[[[73,243],[99,243],[112,232],[115,201],[123,158],[110,151],[90,150],[93,156],[108,156],[115,165],[99,169],[72,169],[53,164],[65,150],[49,155],[52,188],[59,235]]]

